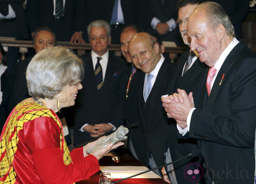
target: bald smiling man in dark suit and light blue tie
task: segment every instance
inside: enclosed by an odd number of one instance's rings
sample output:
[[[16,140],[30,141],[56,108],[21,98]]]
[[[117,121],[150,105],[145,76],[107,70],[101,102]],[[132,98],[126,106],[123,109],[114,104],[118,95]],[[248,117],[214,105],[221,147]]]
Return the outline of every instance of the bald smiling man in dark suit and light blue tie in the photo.
[[[137,33],[129,42],[128,50],[133,64],[146,73],[136,88],[140,124],[145,141],[146,163],[154,168],[163,164],[164,144],[167,138],[167,117],[161,96],[167,93],[175,66],[159,53],[159,45],[148,33]],[[139,142],[139,140],[138,140]],[[160,175],[160,171],[156,171]]]

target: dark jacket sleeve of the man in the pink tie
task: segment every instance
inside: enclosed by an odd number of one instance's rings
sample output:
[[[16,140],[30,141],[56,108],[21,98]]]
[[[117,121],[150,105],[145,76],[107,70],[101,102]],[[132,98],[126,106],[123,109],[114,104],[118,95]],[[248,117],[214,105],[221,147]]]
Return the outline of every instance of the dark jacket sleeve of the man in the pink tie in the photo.
[[[193,112],[190,137],[241,148],[254,146],[256,58],[247,57],[240,63],[234,64],[225,79],[226,83],[223,81],[227,88],[223,92],[229,94],[222,94],[227,98],[215,101],[212,113],[200,109]],[[201,136],[198,137],[198,134]]]

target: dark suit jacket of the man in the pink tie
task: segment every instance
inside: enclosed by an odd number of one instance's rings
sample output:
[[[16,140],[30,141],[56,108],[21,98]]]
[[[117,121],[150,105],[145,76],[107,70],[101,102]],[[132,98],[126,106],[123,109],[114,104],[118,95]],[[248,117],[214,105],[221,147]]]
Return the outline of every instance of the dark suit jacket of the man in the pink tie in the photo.
[[[206,173],[210,170],[215,183],[254,181],[255,91],[256,54],[240,42],[226,57],[209,97],[203,85],[190,123],[189,136],[199,139]]]

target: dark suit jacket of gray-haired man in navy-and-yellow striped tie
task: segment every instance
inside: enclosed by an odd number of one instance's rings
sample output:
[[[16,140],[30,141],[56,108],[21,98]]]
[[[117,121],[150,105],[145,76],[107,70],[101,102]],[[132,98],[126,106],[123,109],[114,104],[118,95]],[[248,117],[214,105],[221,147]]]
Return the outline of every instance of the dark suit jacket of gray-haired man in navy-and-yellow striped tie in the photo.
[[[86,123],[94,125],[99,123],[112,123],[111,115],[118,102],[118,92],[121,76],[126,69],[121,58],[109,54],[107,69],[103,85],[103,95],[100,96],[96,87],[96,79],[92,63],[91,52],[85,56],[85,74],[79,90],[75,114],[74,144],[81,144],[92,139],[87,132],[79,129]],[[123,122],[112,123],[116,128]]]

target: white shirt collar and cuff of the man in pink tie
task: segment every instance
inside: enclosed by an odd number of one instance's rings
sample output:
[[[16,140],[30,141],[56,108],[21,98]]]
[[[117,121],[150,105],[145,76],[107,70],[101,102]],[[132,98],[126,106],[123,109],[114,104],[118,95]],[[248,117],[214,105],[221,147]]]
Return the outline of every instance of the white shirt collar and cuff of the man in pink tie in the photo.
[[[211,89],[213,87],[214,81],[216,79],[216,76],[218,75],[218,72],[220,71],[220,68],[223,64],[223,62],[225,61],[226,57],[229,55],[229,53],[231,52],[231,50],[239,43],[239,41],[234,38],[230,44],[227,46],[227,48],[221,53],[219,59],[214,63],[214,67],[217,70],[215,75],[213,76],[212,79],[212,85],[211,85]],[[206,85],[206,84],[205,84]],[[189,127],[190,127],[190,121],[191,121],[191,117],[192,117],[192,113],[194,112],[196,108],[192,108],[189,112],[189,115],[187,116],[187,128],[181,130],[180,127],[177,126],[179,133],[182,135],[185,135],[187,133],[187,131],[189,131]]]

